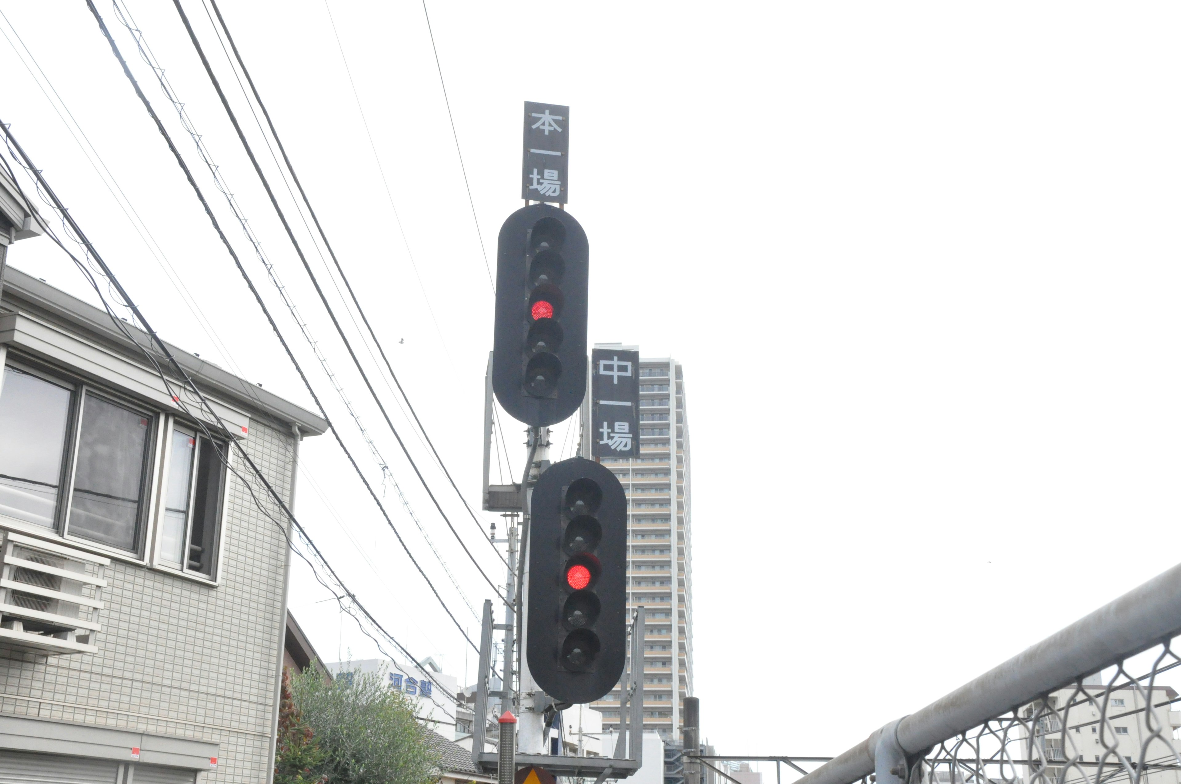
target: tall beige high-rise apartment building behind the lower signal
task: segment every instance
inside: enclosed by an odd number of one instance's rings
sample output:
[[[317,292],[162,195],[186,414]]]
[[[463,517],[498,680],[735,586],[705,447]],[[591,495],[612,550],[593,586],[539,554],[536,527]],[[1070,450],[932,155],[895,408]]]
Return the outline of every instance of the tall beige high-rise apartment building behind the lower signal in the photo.
[[[622,347],[600,344],[599,348]],[[627,491],[628,612],[645,607],[644,729],[680,738],[693,693],[693,548],[689,417],[676,359],[640,360],[640,456],[602,458]],[[594,704],[619,729],[619,687]]]

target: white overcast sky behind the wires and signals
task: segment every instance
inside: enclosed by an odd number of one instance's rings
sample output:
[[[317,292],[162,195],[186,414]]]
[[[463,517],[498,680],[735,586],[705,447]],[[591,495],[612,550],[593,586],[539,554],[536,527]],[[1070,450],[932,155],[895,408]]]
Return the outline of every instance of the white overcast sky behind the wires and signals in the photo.
[[[423,8],[329,4],[389,196],[325,4],[226,0],[223,11],[403,385],[478,508],[491,287]],[[172,5],[128,6],[478,609],[487,584],[346,366]],[[202,6],[184,6],[278,183]],[[197,166],[110,4],[98,7]],[[172,342],[311,405],[84,2],[0,9],[216,340],[0,41],[0,119],[148,318]],[[430,11],[489,262],[521,205],[521,103],[570,105],[590,339],[684,364],[696,691],[719,751],[841,752],[1176,561],[1174,4],[436,0]],[[9,260],[86,294],[47,240]],[[291,318],[276,318],[299,341]],[[379,481],[308,349],[298,352]],[[392,416],[500,582],[404,414]],[[517,472],[521,427],[505,425]],[[331,437],[305,442],[302,462],[298,514],[329,560],[407,647],[463,680],[472,655]],[[393,486],[384,495],[478,639]],[[325,596],[295,573],[292,607],[321,654],[373,655],[352,620],[315,603]]]

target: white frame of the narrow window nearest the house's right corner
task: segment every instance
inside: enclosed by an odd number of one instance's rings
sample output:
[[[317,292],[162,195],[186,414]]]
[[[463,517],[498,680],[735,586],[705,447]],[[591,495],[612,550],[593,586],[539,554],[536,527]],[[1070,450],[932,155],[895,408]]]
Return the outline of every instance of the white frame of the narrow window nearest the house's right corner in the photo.
[[[190,569],[189,557],[188,557],[190,538],[193,536],[193,515],[194,515],[194,509],[196,507],[196,498],[194,496],[196,494],[196,484],[197,484],[200,443],[201,438],[204,438],[205,436],[202,432],[200,425],[196,425],[185,418],[177,417],[176,414],[165,414],[163,418],[165,422],[161,426],[162,455],[155,472],[156,494],[155,494],[155,502],[152,504],[154,525],[152,525],[152,544],[151,544],[151,558],[150,558],[151,566],[162,571],[167,571],[168,574],[185,577],[188,580],[196,580],[197,582],[202,582],[209,586],[217,586],[221,582],[222,556],[224,555],[226,551],[226,520],[227,520],[227,512],[229,510],[229,475],[230,475],[230,469],[234,465],[234,450],[229,449],[228,438],[224,439],[224,442],[222,442],[222,445],[226,446],[227,449],[226,449],[226,463],[221,466],[222,470],[221,498],[218,498],[217,501],[217,517],[216,517],[217,544],[214,548],[215,553],[214,553],[214,564],[211,569],[213,574],[205,575],[196,569]],[[185,430],[195,431],[198,444],[197,450],[193,456],[193,470],[189,477],[189,492],[190,492],[189,509],[185,512],[185,518],[184,518],[184,536],[182,538],[184,551],[181,556],[180,567],[177,567],[174,563],[169,563],[161,555],[161,549],[164,545],[164,535],[163,535],[164,511],[165,511],[164,507],[168,503],[165,485],[168,484],[168,471],[172,459],[172,450],[169,449],[168,446],[171,443],[171,436],[175,432],[177,425],[180,425]],[[216,439],[214,439],[214,442],[216,443]]]

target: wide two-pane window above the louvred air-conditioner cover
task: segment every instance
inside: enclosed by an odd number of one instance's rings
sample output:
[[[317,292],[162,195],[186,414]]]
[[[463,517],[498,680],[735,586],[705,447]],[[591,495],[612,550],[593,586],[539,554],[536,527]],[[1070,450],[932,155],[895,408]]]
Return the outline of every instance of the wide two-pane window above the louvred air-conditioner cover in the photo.
[[[156,417],[15,366],[0,391],[0,514],[139,553]]]

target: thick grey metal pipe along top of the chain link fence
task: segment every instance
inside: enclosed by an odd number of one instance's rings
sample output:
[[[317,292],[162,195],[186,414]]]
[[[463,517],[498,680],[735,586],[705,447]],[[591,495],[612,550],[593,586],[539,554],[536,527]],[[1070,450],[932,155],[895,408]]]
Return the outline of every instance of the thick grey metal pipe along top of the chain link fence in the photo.
[[[1181,564],[907,716],[896,725],[898,743],[907,754],[925,752],[1040,694],[1146,651],[1179,631]],[[869,776],[881,732],[876,730],[797,784],[853,784]]]

